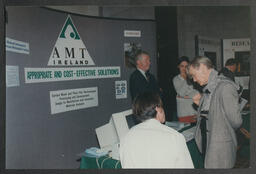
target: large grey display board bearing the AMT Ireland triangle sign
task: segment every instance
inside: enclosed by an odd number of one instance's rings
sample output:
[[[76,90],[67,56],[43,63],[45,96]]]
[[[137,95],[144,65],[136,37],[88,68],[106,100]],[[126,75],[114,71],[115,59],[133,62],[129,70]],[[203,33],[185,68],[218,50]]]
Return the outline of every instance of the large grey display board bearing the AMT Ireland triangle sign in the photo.
[[[78,153],[98,146],[95,128],[131,108],[125,45],[147,51],[156,76],[155,21],[7,13],[6,168],[74,168]]]

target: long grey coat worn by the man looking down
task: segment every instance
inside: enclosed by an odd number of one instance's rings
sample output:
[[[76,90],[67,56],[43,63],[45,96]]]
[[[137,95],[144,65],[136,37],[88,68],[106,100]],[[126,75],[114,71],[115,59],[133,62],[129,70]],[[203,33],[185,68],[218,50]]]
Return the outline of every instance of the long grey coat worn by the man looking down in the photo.
[[[208,131],[205,168],[232,168],[236,161],[235,129],[242,124],[237,92],[239,87],[224,76],[218,76],[214,70],[203,90],[206,89],[210,91],[210,97],[207,97],[207,94],[203,95],[198,112],[200,115],[203,107],[209,108],[206,121]],[[195,140],[201,151],[200,120],[198,117]]]

